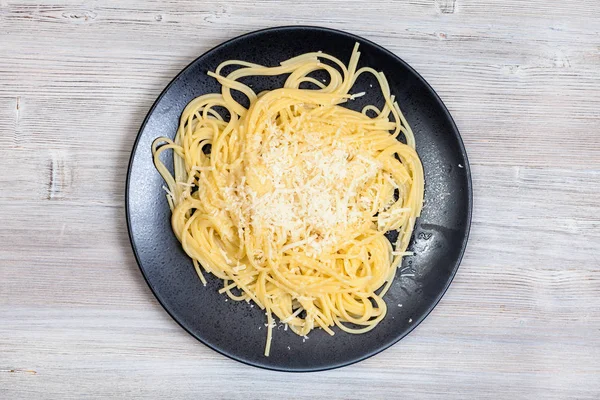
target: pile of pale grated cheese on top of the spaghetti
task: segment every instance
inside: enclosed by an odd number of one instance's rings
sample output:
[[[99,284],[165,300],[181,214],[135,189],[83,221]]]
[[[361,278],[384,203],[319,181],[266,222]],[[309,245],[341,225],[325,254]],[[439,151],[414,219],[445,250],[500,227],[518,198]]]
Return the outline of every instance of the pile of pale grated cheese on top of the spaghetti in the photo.
[[[225,200],[240,235],[242,228],[273,241],[283,235],[282,251],[303,246],[317,256],[372,217],[378,193],[368,188],[382,165],[340,129],[314,131],[305,117],[283,127],[271,121],[250,137],[250,151],[258,155],[252,173],[268,189],[259,193],[243,173],[233,174]]]

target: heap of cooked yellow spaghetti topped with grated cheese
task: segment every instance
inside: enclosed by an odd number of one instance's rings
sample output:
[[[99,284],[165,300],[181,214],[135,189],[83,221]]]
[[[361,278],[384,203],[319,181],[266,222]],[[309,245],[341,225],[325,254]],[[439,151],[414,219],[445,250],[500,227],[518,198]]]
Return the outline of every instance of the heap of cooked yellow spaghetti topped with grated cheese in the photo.
[[[225,61],[208,73],[221,93],[193,99],[174,140],[152,145],[173,232],[205,285],[207,272],[223,281],[220,293],[265,311],[266,356],[277,319],[301,336],[373,329],[408,254],[423,169],[386,77],[358,68],[359,56],[356,44],[348,65],[322,52],[277,67]],[[261,93],[240,80],[285,74],[283,87]],[[343,107],[364,94],[350,94],[362,74],[377,79],[381,109]],[[160,159],[165,150],[173,175]],[[399,232],[393,245],[384,236],[391,230]]]

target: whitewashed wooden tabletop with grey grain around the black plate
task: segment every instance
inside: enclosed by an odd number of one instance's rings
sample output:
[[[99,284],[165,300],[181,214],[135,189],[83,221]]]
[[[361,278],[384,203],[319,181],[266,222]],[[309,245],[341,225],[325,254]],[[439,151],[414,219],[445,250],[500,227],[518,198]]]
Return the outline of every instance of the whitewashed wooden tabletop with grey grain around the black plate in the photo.
[[[600,3],[0,0],[0,398],[600,398]],[[398,345],[329,372],[185,333],[133,259],[127,160],[169,80],[251,30],[372,39],[438,91],[472,163],[471,241]]]

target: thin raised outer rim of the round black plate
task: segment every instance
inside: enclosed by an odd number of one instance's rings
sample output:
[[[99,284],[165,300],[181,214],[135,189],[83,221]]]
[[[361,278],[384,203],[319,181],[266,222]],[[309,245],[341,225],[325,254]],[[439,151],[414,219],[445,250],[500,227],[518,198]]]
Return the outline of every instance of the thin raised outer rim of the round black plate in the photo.
[[[345,361],[345,362],[339,362],[339,363],[335,363],[335,364],[331,364],[331,365],[327,365],[327,366],[322,366],[322,367],[308,367],[308,368],[306,368],[306,367],[300,367],[300,368],[295,368],[295,367],[279,367],[279,366],[269,365],[268,363],[253,362],[253,361],[246,360],[246,359],[244,359],[242,357],[236,356],[235,354],[229,353],[229,352],[227,352],[224,349],[220,349],[218,346],[214,346],[214,345],[206,342],[203,338],[198,337],[190,329],[188,329],[188,327],[186,327],[183,322],[181,322],[177,318],[175,318],[175,316],[171,313],[171,311],[169,311],[169,309],[166,307],[165,302],[163,301],[163,299],[161,298],[161,296],[158,294],[158,292],[155,290],[155,288],[152,285],[152,283],[150,283],[150,280],[149,280],[148,276],[146,275],[146,272],[144,271],[144,268],[142,267],[142,263],[140,262],[140,258],[138,256],[137,246],[135,244],[135,241],[134,241],[134,238],[133,238],[133,233],[132,233],[131,212],[130,212],[130,208],[129,208],[129,189],[130,189],[130,183],[131,183],[131,169],[132,169],[132,166],[133,166],[133,160],[134,160],[135,155],[136,155],[136,153],[138,151],[138,144],[139,144],[140,138],[142,136],[142,132],[146,128],[146,124],[148,123],[148,120],[150,119],[151,115],[154,113],[154,111],[155,111],[158,103],[165,96],[165,94],[171,88],[171,86],[173,86],[173,84],[179,79],[179,77],[185,71],[188,70],[188,68],[190,68],[197,61],[199,61],[200,59],[202,59],[205,56],[209,55],[213,51],[217,51],[218,49],[220,49],[220,48],[222,48],[222,47],[224,47],[224,46],[226,46],[226,45],[228,45],[230,43],[239,41],[239,40],[248,39],[248,38],[250,38],[252,36],[260,35],[260,34],[265,33],[265,32],[277,32],[277,31],[289,31],[289,30],[306,30],[306,29],[313,30],[313,31],[321,31],[321,32],[326,32],[326,33],[334,33],[334,34],[337,34],[337,35],[346,36],[346,37],[349,37],[351,39],[359,40],[359,41],[362,41],[364,43],[367,43],[368,45],[373,46],[375,49],[386,53],[387,55],[389,55],[392,58],[394,58],[396,61],[400,62],[405,68],[407,68],[411,73],[413,73],[414,76],[421,81],[421,83],[423,83],[427,88],[429,88],[429,90],[433,94],[433,98],[435,99],[436,103],[438,103],[438,105],[443,110],[443,113],[444,113],[445,117],[450,121],[451,128],[452,128],[452,134],[457,139],[457,143],[458,143],[458,147],[459,147],[459,150],[460,150],[460,154],[464,158],[464,161],[465,161],[464,169],[465,169],[466,178],[467,178],[467,192],[468,193],[467,193],[467,215],[466,215],[466,225],[465,225],[465,236],[464,236],[464,238],[462,240],[462,243],[461,243],[461,249],[460,249],[460,252],[458,254],[457,261],[456,261],[454,267],[452,268],[452,271],[450,273],[450,277],[449,277],[448,281],[446,282],[444,288],[439,292],[437,298],[432,302],[432,304],[427,309],[427,311],[425,313],[423,313],[423,315],[420,318],[417,318],[416,320],[414,320],[413,324],[406,330],[406,332],[404,332],[404,334],[399,335],[398,337],[394,338],[394,340],[392,340],[390,343],[382,345],[382,346],[379,346],[377,349],[372,350],[372,351],[370,351],[368,353],[365,353],[365,354],[363,354],[363,355],[361,355],[359,357],[356,357],[353,360]],[[268,27],[268,28],[263,28],[263,29],[259,29],[259,30],[254,30],[254,31],[246,32],[246,33],[244,33],[242,35],[238,35],[238,36],[235,36],[235,37],[233,37],[231,39],[228,39],[226,41],[220,42],[216,46],[208,49],[207,51],[205,51],[204,53],[202,53],[201,55],[199,55],[198,57],[196,57],[195,59],[193,59],[188,65],[186,65],[183,69],[181,69],[181,71],[179,71],[177,73],[177,75],[175,75],[175,77],[173,77],[173,79],[171,79],[169,81],[169,83],[167,84],[167,86],[165,86],[165,88],[160,92],[160,94],[158,95],[158,97],[156,98],[156,100],[154,101],[154,103],[152,104],[152,107],[150,107],[148,113],[144,117],[144,120],[143,120],[143,122],[142,122],[142,124],[140,126],[140,129],[138,130],[138,132],[136,134],[135,141],[133,142],[133,146],[132,146],[132,149],[131,149],[131,155],[129,156],[129,162],[127,164],[127,176],[126,176],[126,181],[125,181],[125,219],[127,221],[127,235],[129,237],[129,243],[131,245],[131,249],[133,250],[133,254],[134,254],[134,257],[135,257],[136,264],[137,264],[140,272],[142,273],[142,276],[144,277],[144,280],[146,281],[146,284],[150,288],[152,294],[154,295],[154,297],[156,298],[156,300],[158,301],[158,303],[160,304],[160,306],[162,307],[162,309],[164,311],[166,311],[167,314],[171,317],[171,319],[173,319],[189,335],[191,335],[193,338],[195,338],[196,340],[198,340],[200,343],[202,343],[206,347],[208,347],[208,348],[216,351],[217,353],[219,353],[221,355],[224,355],[225,357],[230,358],[230,359],[232,359],[234,361],[241,362],[243,364],[250,365],[250,366],[253,366],[253,367],[258,367],[258,368],[262,368],[262,369],[266,369],[266,370],[271,370],[271,371],[280,371],[280,372],[318,372],[318,371],[328,371],[328,370],[332,370],[332,369],[337,369],[337,368],[349,366],[349,365],[352,365],[352,364],[356,364],[356,363],[358,363],[360,361],[364,361],[367,358],[373,357],[374,355],[381,353],[382,351],[384,351],[384,350],[386,350],[386,349],[394,346],[400,340],[402,340],[407,335],[409,335],[412,331],[414,331],[416,329],[417,326],[419,326],[423,322],[423,320],[425,320],[425,318],[427,318],[429,316],[429,314],[431,314],[431,312],[433,311],[433,309],[442,300],[442,298],[444,297],[444,295],[448,291],[448,288],[450,287],[450,284],[452,283],[452,281],[456,277],[456,274],[458,272],[460,264],[462,263],[462,259],[464,257],[465,251],[467,249],[467,244],[468,244],[469,236],[470,236],[470,232],[471,232],[472,216],[473,216],[473,184],[472,184],[472,179],[471,179],[471,167],[470,167],[469,159],[467,157],[467,151],[465,149],[464,142],[462,140],[462,136],[460,135],[460,131],[458,130],[458,127],[456,126],[456,122],[454,121],[454,118],[452,118],[452,115],[450,114],[450,111],[448,111],[448,108],[446,107],[446,105],[444,104],[444,102],[442,101],[442,99],[440,98],[439,94],[435,91],[435,89],[421,76],[421,74],[419,74],[419,72],[417,72],[413,67],[411,67],[402,58],[400,58],[399,56],[397,56],[395,53],[391,52],[390,50],[386,49],[385,47],[383,47],[383,46],[381,46],[381,45],[379,45],[379,44],[377,44],[377,43],[375,43],[375,42],[373,42],[373,41],[371,41],[369,39],[366,39],[366,38],[364,38],[362,36],[359,36],[359,35],[356,35],[356,34],[353,34],[353,33],[350,33],[350,32],[346,32],[346,31],[342,31],[342,30],[334,29],[334,28],[327,28],[327,27],[322,27],[322,26],[316,26],[316,25],[281,25],[281,26]]]

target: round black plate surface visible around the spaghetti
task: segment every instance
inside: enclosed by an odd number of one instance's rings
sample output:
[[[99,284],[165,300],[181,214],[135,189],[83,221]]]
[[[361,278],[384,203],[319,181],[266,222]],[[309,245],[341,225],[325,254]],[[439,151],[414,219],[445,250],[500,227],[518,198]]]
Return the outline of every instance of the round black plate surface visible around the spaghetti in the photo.
[[[258,307],[226,301],[217,293],[222,285],[209,279],[203,287],[192,263],[171,231],[170,211],[154,169],[150,144],[159,136],[175,135],[179,116],[194,97],[218,92],[206,76],[219,63],[241,59],[278,65],[298,54],[322,50],[347,62],[355,42],[362,52],[360,66],[383,71],[392,93],[411,125],[425,169],[425,207],[409,249],[385,296],[388,315],[371,332],[351,335],[322,330],[309,339],[276,329],[271,356],[263,356],[266,320]],[[283,83],[283,78],[251,82],[258,91]],[[373,84],[373,87],[370,87]],[[359,80],[353,92],[367,92],[351,106],[380,104],[374,82]],[[171,156],[168,156],[171,157]],[[171,159],[167,159],[170,165]],[[214,350],[258,367],[285,371],[336,368],[372,356],[413,330],[435,307],[452,281],[462,258],[471,220],[471,178],[467,155],[448,110],[434,92],[404,61],[358,36],[316,27],[279,27],[232,39],[200,56],[161,93],[144,121],[129,164],[126,209],[129,236],[148,285],[167,312],[185,330]],[[402,305],[401,307],[399,305]]]

